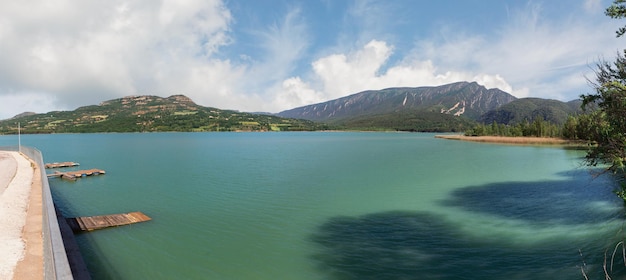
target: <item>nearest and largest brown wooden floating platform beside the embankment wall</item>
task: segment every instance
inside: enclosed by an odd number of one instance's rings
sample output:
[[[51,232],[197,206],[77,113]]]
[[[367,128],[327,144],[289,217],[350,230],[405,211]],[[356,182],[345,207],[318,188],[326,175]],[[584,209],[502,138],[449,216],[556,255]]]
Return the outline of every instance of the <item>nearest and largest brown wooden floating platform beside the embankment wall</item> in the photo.
[[[74,232],[81,232],[130,225],[150,220],[152,220],[152,218],[146,216],[144,213],[130,212],[124,214],[67,218],[67,223]]]

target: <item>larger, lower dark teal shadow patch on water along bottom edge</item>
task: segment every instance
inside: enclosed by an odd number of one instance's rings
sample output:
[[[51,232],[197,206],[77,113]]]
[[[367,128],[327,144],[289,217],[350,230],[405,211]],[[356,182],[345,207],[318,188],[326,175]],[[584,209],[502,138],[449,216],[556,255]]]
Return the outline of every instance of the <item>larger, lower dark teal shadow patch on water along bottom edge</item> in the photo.
[[[472,239],[424,212],[337,217],[312,239],[321,249],[314,259],[332,279],[582,279],[578,250],[587,264],[601,264],[604,253],[569,239],[524,248]],[[585,269],[603,279],[600,265]]]

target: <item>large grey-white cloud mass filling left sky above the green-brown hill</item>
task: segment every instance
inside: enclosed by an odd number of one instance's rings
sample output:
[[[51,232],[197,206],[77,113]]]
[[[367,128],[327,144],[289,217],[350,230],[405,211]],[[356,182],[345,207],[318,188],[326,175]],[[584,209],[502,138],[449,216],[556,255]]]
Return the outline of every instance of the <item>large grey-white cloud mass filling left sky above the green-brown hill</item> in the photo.
[[[235,19],[220,0],[4,1],[0,100],[12,105],[2,108],[0,119],[137,94],[185,94],[225,109],[276,109],[276,89],[308,46],[301,18],[295,7],[267,26],[240,30],[254,37],[242,44],[260,54],[232,60],[221,50],[237,43]],[[42,101],[19,102],[35,96]]]

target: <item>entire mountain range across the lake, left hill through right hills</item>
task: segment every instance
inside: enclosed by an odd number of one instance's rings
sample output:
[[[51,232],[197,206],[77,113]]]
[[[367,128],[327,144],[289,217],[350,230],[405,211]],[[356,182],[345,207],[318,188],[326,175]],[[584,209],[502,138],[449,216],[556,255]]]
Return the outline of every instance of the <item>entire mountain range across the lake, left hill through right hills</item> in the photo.
[[[197,105],[183,95],[128,96],[45,114],[0,121],[0,134],[156,131],[395,130],[464,131],[476,123],[516,124],[541,118],[564,123],[579,100],[521,98],[475,82],[368,90],[278,114],[244,113]]]

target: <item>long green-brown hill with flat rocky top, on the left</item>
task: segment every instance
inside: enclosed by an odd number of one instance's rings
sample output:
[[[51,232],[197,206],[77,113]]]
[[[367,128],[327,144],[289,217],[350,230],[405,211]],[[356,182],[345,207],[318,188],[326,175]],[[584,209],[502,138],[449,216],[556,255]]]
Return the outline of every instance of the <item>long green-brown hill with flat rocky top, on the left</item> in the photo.
[[[323,125],[271,115],[203,107],[183,95],[128,96],[80,107],[0,121],[0,134],[151,131],[317,130]]]

